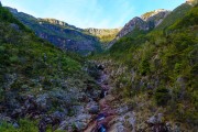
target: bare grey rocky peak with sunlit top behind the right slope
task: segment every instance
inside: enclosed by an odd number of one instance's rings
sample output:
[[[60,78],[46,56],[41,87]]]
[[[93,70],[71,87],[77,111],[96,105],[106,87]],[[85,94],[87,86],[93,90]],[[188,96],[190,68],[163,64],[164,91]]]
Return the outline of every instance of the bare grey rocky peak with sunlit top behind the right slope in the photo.
[[[164,20],[164,18],[166,18],[167,14],[169,14],[169,12],[170,11],[160,9],[160,10],[147,12],[143,14],[141,18],[139,16],[133,18],[117,34],[117,37],[110,43],[110,46],[122,36],[127,35],[130,32],[133,32],[134,29],[139,29],[141,31],[148,31],[156,28]]]

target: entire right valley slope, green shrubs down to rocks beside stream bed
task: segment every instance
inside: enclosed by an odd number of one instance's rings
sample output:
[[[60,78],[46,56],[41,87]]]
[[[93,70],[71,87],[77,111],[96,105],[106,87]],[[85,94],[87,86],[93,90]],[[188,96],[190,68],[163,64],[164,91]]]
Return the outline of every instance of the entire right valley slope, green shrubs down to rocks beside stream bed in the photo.
[[[198,130],[198,7],[183,13],[173,12],[177,19],[162,30],[121,37],[98,58],[114,82],[116,98],[134,112],[135,122],[123,122],[123,129]]]

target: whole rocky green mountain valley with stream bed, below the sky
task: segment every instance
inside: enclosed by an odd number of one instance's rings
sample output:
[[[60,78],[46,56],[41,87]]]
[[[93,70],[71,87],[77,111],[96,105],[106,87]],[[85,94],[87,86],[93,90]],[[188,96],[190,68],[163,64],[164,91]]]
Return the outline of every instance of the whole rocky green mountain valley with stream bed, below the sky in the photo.
[[[198,2],[80,29],[0,2],[0,132],[196,132]]]

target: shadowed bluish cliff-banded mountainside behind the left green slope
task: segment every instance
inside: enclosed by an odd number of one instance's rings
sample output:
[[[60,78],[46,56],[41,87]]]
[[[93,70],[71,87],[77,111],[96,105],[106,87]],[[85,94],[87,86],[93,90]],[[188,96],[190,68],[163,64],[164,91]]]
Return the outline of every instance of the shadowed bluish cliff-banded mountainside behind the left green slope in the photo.
[[[15,9],[8,8],[23,24],[32,29],[37,36],[44,38],[62,50],[80,53],[100,52],[97,37],[86,34],[81,29],[54,19],[36,19]]]

